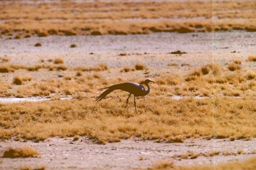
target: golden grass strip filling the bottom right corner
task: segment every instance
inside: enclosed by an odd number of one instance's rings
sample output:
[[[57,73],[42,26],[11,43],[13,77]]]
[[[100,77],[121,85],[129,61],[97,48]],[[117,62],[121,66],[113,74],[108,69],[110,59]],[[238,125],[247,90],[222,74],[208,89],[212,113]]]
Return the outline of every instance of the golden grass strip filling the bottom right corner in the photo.
[[[157,169],[170,169],[170,170],[254,170],[256,168],[256,158],[247,159],[244,161],[231,161],[219,165],[196,165],[196,166],[175,166],[172,161],[163,160],[158,163],[153,168],[148,168],[152,170]]]

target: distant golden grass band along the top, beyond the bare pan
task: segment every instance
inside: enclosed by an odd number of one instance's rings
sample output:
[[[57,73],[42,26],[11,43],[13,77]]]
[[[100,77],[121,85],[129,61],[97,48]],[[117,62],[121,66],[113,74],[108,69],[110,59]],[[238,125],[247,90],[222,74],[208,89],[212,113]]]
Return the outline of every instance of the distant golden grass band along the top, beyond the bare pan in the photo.
[[[1,4],[0,24],[3,36],[36,34],[102,35],[141,34],[152,32],[211,32],[228,30],[255,31],[255,2],[45,2]],[[177,5],[178,4],[178,5]],[[84,11],[84,8],[87,10]],[[34,9],[34,10],[31,10]],[[161,10],[160,10],[161,9]],[[233,11],[236,10],[234,13]],[[77,11],[78,14],[74,14]],[[225,18],[213,21],[211,17]],[[195,17],[203,19],[196,20]],[[170,21],[170,18],[173,19]],[[175,18],[185,18],[174,21]],[[242,18],[244,20],[236,20]],[[60,20],[60,21],[56,21]],[[125,19],[134,19],[127,21]],[[148,19],[153,19],[148,20]],[[252,20],[251,20],[252,19]]]

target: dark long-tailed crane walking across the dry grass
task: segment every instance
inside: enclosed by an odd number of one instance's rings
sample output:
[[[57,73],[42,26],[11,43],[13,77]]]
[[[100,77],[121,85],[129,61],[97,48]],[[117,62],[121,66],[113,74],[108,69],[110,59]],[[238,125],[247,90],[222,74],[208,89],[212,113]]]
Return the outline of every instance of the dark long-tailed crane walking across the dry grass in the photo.
[[[148,83],[150,83],[150,82],[153,82],[153,81],[150,79],[146,79],[143,82],[143,84],[145,84],[148,87],[148,90],[146,90],[143,87],[143,85],[140,85],[138,83],[133,83],[133,82],[120,83],[117,85],[111,85],[109,87],[102,88],[102,89],[107,89],[107,90],[105,90],[103,93],[101,93],[100,96],[95,101],[99,102],[100,100],[104,99],[104,97],[106,97],[109,93],[113,92],[114,90],[123,90],[125,92],[130,93],[126,100],[126,109],[128,110],[128,101],[129,101],[130,96],[133,94],[135,112],[137,113],[135,97],[146,96],[150,91],[150,88],[148,86]],[[155,83],[155,82],[153,82],[153,83]],[[101,90],[101,89],[99,89],[99,90]]]

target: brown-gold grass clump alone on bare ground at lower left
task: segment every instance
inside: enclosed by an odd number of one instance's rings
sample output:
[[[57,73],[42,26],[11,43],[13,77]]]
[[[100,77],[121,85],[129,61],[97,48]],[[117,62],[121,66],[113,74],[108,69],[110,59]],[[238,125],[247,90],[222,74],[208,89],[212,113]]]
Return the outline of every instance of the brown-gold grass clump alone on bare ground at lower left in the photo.
[[[34,148],[24,146],[20,148],[13,149],[12,147],[4,151],[2,158],[28,158],[28,157],[38,157],[40,153]]]

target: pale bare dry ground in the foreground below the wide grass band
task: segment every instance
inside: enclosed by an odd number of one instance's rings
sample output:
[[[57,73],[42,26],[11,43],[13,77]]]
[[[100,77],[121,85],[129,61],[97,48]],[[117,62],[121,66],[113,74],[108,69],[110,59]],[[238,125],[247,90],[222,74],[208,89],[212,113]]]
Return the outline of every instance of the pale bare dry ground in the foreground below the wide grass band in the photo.
[[[175,165],[213,165],[231,160],[243,160],[255,156],[256,138],[230,141],[230,139],[187,139],[183,143],[157,143],[137,138],[105,145],[95,144],[87,137],[73,141],[73,137],[53,137],[43,142],[6,140],[0,142],[0,150],[9,146],[32,146],[41,153],[39,158],[3,158],[2,169],[18,169],[21,165],[44,165],[46,169],[140,169],[152,167],[156,162],[173,160]],[[238,154],[238,151],[243,151]],[[218,155],[203,153],[219,151]],[[198,153],[195,159],[182,159],[179,155]],[[223,153],[235,154],[223,154]],[[175,158],[176,157],[176,158]]]

